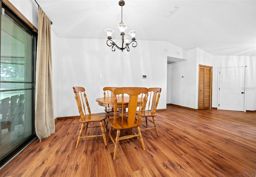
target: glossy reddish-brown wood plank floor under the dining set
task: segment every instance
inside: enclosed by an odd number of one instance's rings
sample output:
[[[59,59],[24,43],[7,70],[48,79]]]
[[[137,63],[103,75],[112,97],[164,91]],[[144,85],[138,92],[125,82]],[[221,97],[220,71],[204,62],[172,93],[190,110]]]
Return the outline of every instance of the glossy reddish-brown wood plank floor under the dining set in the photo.
[[[1,177],[255,177],[256,112],[187,110],[167,105],[158,110],[154,130],[105,148],[102,137],[82,139],[78,120],[58,120],[56,133],[32,142]],[[100,132],[100,130],[98,130]]]

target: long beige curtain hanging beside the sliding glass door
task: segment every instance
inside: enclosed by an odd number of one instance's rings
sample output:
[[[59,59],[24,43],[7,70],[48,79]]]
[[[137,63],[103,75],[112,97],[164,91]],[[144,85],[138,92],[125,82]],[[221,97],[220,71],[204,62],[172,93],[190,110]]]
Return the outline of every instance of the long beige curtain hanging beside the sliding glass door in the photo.
[[[36,135],[41,142],[55,133],[52,95],[52,46],[50,20],[39,7],[36,56]]]

